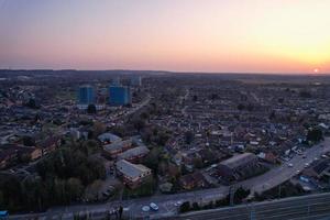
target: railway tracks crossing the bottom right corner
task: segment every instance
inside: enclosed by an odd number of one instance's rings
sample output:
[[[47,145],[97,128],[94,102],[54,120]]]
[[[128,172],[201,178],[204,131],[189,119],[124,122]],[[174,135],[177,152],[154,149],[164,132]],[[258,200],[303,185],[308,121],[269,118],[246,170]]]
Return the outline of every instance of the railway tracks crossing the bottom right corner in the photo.
[[[316,220],[330,219],[330,194],[240,205],[222,209],[190,212],[175,217],[185,220]]]

